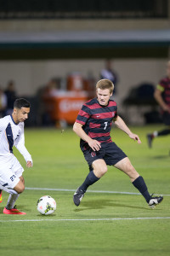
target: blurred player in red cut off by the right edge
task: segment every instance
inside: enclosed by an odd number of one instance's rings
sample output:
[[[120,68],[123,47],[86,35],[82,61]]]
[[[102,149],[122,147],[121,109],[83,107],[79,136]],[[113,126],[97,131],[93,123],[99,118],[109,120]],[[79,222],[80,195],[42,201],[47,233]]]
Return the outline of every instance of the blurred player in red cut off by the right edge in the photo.
[[[161,79],[160,83],[157,84],[154,96],[156,98],[156,102],[158,102],[161,107],[163,123],[167,125],[167,129],[154,131],[147,135],[148,145],[150,148],[155,137],[170,134],[170,61],[167,62],[167,77]]]

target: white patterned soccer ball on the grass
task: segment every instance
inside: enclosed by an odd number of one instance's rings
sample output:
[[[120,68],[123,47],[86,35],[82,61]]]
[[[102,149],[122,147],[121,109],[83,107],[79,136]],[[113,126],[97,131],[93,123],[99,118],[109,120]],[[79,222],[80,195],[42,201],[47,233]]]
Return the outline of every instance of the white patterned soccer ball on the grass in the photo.
[[[52,214],[55,209],[56,202],[54,201],[54,198],[49,195],[44,195],[37,201],[37,211],[42,215]]]

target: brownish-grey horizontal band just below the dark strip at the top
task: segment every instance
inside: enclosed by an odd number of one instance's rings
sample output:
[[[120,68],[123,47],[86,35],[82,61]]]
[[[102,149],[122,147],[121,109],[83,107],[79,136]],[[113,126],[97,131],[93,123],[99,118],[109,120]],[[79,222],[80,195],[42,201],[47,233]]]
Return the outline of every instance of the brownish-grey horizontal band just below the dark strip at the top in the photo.
[[[77,22],[78,21],[78,22]],[[77,31],[77,30],[142,30],[169,29],[168,19],[139,20],[1,20],[0,31]]]

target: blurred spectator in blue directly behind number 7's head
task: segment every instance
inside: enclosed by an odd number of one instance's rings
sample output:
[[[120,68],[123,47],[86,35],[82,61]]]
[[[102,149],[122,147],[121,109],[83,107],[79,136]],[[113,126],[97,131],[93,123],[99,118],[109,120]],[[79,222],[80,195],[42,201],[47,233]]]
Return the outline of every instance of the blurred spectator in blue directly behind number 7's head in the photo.
[[[113,70],[113,64],[111,64],[111,60],[105,61],[105,68],[100,72],[100,79],[110,79],[111,82],[115,85],[113,94],[116,94],[116,84],[117,84],[117,74]]]

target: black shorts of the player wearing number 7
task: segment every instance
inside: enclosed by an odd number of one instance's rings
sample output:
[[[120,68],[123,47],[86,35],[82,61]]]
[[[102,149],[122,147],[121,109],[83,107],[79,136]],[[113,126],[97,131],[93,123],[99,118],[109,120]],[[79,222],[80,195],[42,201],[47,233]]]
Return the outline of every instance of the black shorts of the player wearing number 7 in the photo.
[[[99,151],[94,151],[88,146],[88,143],[84,143],[81,146],[82,153],[84,154],[85,160],[88,162],[90,171],[93,170],[92,163],[94,160],[103,159],[106,165],[114,166],[127,155],[122,151],[121,148],[116,146],[116,143],[101,143]]]

